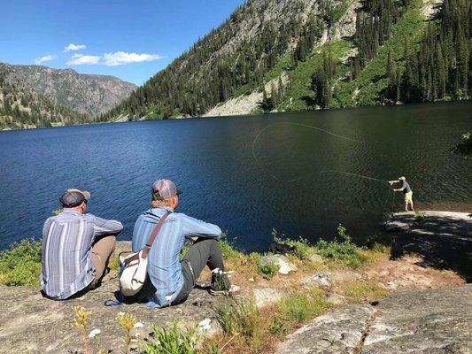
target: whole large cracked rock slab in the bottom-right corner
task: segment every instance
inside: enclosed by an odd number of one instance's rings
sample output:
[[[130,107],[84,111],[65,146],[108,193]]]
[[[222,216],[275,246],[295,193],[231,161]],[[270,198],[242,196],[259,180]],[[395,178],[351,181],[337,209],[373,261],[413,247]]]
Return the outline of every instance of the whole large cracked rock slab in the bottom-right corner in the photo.
[[[301,327],[277,353],[469,353],[472,285],[398,293],[340,307]]]

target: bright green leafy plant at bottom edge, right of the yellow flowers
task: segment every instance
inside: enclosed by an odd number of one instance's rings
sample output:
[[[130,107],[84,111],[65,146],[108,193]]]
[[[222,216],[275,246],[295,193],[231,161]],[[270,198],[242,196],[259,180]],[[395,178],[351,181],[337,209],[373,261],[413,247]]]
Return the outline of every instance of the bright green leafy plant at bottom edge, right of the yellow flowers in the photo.
[[[142,353],[146,354],[193,354],[196,353],[200,336],[196,330],[179,327],[176,322],[165,329],[155,324],[151,325],[152,339],[143,343]]]

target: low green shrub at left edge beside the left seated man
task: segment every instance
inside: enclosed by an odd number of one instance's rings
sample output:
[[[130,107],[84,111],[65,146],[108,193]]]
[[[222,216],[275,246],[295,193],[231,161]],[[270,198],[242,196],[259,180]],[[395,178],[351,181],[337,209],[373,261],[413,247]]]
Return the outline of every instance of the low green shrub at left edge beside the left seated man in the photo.
[[[0,252],[0,283],[8,286],[36,286],[42,271],[42,242],[25,239]]]

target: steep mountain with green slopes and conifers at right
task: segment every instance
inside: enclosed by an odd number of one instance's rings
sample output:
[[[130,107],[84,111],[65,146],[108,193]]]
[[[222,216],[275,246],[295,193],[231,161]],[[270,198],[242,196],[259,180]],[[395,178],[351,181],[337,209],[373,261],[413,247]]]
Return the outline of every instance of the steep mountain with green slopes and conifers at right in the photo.
[[[248,0],[102,119],[467,99],[468,0]]]

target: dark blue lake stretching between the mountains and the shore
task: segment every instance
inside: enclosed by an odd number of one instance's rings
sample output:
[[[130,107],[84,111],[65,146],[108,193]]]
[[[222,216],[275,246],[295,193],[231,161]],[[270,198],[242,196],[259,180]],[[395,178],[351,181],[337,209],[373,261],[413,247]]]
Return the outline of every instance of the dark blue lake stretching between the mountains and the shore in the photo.
[[[122,221],[120,239],[129,240],[159,178],[183,189],[179,212],[219,225],[245,250],[265,250],[273,228],[315,242],[342,223],[365,240],[384,212],[403,208],[403,196],[366,177],[406,176],[417,209],[471,212],[472,159],[450,152],[472,128],[471,109],[412,104],[0,132],[0,249],[40,237],[72,187],[89,190],[89,212]]]

